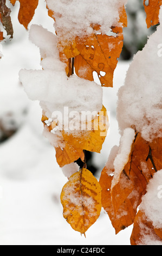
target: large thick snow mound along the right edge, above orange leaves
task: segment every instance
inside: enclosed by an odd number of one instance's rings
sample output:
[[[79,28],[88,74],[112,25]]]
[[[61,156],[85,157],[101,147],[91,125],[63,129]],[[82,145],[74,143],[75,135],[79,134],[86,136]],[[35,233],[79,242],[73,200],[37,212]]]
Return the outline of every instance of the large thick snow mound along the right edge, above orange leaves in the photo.
[[[159,16],[162,23],[162,8]],[[158,54],[162,26],[150,36],[142,51],[135,54],[120,88],[117,115],[121,133],[134,127],[146,141],[162,136],[162,58]]]

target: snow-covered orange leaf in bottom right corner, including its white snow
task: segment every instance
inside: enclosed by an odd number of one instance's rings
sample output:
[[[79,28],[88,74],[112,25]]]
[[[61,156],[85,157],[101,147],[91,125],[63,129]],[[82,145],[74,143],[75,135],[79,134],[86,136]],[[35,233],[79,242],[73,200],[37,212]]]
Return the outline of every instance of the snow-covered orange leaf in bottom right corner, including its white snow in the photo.
[[[161,178],[162,170],[158,170],[147,184],[134,220],[132,245],[162,245]]]

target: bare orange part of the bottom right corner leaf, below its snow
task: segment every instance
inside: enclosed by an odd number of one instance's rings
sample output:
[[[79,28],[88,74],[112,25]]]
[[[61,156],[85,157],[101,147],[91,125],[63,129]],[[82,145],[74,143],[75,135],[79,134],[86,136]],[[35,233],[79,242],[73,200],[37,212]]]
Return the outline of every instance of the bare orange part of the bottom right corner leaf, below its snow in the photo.
[[[147,236],[156,241],[162,242],[162,230],[154,229],[152,222],[147,220],[143,211],[138,211],[135,217],[131,235],[131,245],[144,245],[147,243]]]

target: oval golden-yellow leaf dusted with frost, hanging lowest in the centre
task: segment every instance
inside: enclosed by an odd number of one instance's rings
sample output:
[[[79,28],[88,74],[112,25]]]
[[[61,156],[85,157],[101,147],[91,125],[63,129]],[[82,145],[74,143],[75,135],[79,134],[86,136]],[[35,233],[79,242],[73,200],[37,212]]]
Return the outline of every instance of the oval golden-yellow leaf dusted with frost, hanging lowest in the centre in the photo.
[[[101,187],[89,170],[74,173],[61,192],[63,216],[76,231],[85,234],[101,211]]]

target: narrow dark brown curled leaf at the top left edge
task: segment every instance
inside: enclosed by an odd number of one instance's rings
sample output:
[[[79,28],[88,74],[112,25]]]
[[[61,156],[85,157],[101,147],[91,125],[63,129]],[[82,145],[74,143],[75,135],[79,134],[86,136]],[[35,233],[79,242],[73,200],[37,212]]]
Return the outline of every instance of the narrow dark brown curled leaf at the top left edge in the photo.
[[[6,0],[0,0],[0,19],[5,31],[7,32],[7,35],[10,35],[10,38],[12,38],[14,31],[10,17],[11,10],[5,5],[5,2]],[[2,32],[0,35],[0,40],[3,40]]]

